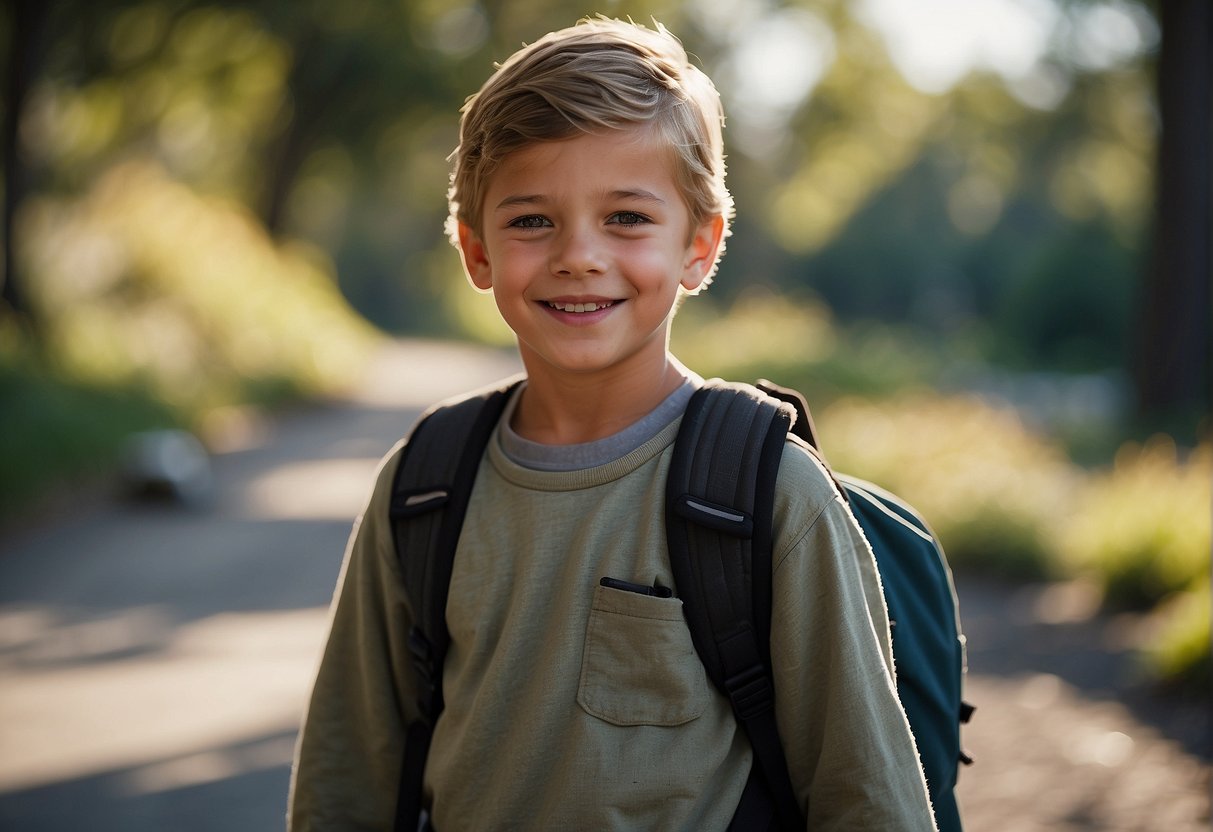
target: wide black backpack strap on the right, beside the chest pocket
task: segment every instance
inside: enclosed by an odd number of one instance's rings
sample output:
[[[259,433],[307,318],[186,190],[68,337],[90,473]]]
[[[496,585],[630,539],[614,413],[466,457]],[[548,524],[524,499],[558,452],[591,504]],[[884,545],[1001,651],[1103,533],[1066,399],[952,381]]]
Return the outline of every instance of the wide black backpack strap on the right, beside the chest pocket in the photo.
[[[754,768],[730,828],[804,828],[775,723],[771,512],[790,409],[707,382],[687,406],[666,484],[670,563],[691,640],[733,703]]]

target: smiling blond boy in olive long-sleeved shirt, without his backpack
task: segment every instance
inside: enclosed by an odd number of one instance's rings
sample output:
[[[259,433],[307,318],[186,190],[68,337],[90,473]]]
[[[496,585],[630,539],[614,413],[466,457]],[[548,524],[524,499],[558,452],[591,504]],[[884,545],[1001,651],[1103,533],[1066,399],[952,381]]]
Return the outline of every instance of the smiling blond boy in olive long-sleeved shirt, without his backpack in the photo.
[[[722,110],[660,27],[596,19],[509,58],[463,109],[449,230],[526,382],[482,460],[446,620],[433,828],[724,830],[750,743],[672,587],[665,472],[702,380],[668,349],[728,233]],[[346,555],[290,822],[388,830],[415,680],[388,456]],[[784,449],[776,719],[813,830],[933,830],[875,562],[831,480]]]

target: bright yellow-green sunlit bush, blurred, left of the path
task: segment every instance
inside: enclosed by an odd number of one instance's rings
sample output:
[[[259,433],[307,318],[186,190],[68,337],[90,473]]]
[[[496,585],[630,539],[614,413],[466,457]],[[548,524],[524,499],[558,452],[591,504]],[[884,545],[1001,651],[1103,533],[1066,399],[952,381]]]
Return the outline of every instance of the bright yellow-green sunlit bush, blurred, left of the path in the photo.
[[[24,237],[58,360],[141,381],[187,414],[272,380],[332,389],[371,338],[325,258],[273,245],[239,206],[150,165],[116,166],[80,200],[44,199]]]

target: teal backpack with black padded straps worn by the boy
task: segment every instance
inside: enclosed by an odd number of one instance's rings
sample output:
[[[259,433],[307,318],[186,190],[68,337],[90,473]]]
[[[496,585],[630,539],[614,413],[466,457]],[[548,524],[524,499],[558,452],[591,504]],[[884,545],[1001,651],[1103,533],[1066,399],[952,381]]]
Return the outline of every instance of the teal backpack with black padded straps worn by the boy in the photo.
[[[484,449],[520,378],[432,408],[416,424],[393,483],[391,515],[414,610],[408,643],[420,717],[406,729],[395,828],[414,832],[422,777],[443,710],[450,634],[446,595],[463,515]],[[733,705],[754,763],[730,830],[804,828],[774,713],[770,671],[771,511],[787,437],[825,462],[808,405],[795,391],[708,381],[683,415],[667,475],[666,536],[691,640]],[[959,832],[953,788],[964,636],[951,571],[926,522],[879,488],[835,474],[876,554],[892,625],[898,694],[940,832]]]

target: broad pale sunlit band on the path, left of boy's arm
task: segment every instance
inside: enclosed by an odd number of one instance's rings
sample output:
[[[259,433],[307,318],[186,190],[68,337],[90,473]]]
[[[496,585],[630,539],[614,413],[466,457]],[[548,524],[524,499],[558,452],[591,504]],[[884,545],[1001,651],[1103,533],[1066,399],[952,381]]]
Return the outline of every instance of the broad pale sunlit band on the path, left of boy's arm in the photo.
[[[323,608],[213,615],[177,626],[155,623],[143,609],[101,621],[55,609],[21,615],[42,621],[27,645],[35,655],[40,642],[62,643],[64,631],[80,636],[92,626],[142,634],[155,649],[96,662],[87,655],[68,661],[55,648],[61,661],[50,666],[27,661],[27,651],[0,651],[2,792],[130,768],[130,788],[146,793],[287,764],[283,741],[234,757],[216,748],[294,733],[328,620]],[[7,616],[0,629],[7,629]]]

